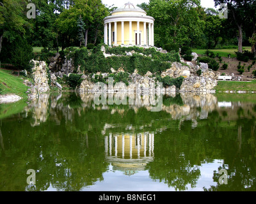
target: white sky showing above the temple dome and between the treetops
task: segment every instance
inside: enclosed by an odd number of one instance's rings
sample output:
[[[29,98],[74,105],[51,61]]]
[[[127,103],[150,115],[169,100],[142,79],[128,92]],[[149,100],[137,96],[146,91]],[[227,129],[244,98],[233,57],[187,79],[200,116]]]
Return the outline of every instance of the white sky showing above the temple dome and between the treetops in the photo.
[[[122,7],[127,2],[131,2],[136,6],[137,4],[141,4],[144,2],[148,3],[149,0],[102,0],[102,3],[108,4],[108,6],[115,4],[115,6],[117,6],[117,7]],[[214,8],[214,1],[213,0],[201,0],[201,5],[205,8]]]

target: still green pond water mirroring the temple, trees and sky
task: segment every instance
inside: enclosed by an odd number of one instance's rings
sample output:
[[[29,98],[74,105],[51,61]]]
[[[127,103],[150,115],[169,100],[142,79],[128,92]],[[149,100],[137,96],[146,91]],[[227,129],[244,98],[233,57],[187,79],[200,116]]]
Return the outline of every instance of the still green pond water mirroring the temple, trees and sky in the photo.
[[[163,96],[160,112],[75,92],[2,104],[0,191],[255,191],[255,116],[253,94]]]

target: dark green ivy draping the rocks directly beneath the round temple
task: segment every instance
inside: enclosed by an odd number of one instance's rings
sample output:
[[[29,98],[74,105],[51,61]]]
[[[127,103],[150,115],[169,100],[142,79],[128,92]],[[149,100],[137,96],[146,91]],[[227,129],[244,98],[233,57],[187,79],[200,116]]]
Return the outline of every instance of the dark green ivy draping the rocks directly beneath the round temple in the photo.
[[[161,73],[171,66],[171,62],[179,61],[179,54],[175,52],[170,52],[163,54],[157,52],[155,48],[143,49],[138,47],[115,47],[106,48],[106,52],[109,54],[116,54],[119,56],[104,57],[103,53],[100,51],[101,45],[94,47],[92,54],[88,55],[86,48],[81,48],[75,50],[74,54],[74,65],[76,68],[80,65],[81,71],[86,73],[97,73],[100,72],[111,72],[111,68],[117,70],[123,68],[129,73],[133,73],[134,69],[138,69],[141,75],[145,75],[147,71],[152,73]],[[125,52],[136,50],[141,54],[133,54],[132,56],[127,56]],[[148,57],[147,55],[152,55]],[[70,53],[69,55],[72,55]]]

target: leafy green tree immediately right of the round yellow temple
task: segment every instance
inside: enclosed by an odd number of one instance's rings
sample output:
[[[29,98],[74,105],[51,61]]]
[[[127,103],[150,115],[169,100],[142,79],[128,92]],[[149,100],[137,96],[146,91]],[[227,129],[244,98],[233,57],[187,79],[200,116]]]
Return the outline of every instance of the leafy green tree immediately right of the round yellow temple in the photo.
[[[148,15],[155,18],[156,45],[190,43],[202,33],[203,22],[196,11],[198,0],[151,0]]]

